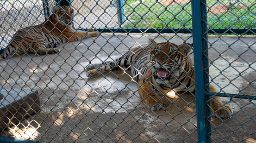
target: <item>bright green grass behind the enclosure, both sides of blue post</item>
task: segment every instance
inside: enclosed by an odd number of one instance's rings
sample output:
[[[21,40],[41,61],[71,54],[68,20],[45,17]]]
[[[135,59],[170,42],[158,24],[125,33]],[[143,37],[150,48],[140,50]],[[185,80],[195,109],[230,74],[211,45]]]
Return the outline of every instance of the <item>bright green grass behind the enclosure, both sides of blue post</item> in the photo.
[[[160,1],[160,0],[159,0]],[[224,0],[225,1],[225,0]],[[226,0],[227,1],[227,0]],[[251,4],[250,4],[251,2]],[[208,0],[208,6],[224,4],[216,3],[216,0]],[[243,4],[250,6],[250,10],[241,6],[232,6],[231,12],[207,13],[208,27],[212,29],[248,29],[256,27],[256,2],[255,0],[243,0]],[[182,29],[192,28],[191,3],[179,5],[162,5],[156,0],[124,0],[125,16],[129,21],[124,28],[147,29],[150,28],[169,28]]]

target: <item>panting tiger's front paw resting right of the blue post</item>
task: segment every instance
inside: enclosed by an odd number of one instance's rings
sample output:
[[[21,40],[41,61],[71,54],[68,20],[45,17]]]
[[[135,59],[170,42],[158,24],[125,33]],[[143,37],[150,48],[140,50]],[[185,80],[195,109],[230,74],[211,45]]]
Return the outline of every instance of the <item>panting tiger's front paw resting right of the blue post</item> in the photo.
[[[222,119],[227,119],[231,117],[232,114],[233,114],[232,109],[227,105],[223,105],[221,109],[216,109],[216,111],[214,112],[215,117],[219,117]]]

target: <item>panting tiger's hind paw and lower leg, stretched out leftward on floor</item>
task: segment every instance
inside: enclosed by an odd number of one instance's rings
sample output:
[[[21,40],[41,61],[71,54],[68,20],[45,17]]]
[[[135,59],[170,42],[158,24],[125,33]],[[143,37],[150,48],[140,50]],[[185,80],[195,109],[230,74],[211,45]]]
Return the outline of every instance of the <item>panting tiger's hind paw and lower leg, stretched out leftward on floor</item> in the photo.
[[[112,69],[115,64],[116,63],[114,63],[114,62],[104,62],[104,64],[102,64],[102,63],[91,64],[91,65],[87,66],[87,68],[85,69],[86,76],[88,76],[88,77],[100,76],[100,75],[106,73],[107,71],[110,71],[110,69]]]

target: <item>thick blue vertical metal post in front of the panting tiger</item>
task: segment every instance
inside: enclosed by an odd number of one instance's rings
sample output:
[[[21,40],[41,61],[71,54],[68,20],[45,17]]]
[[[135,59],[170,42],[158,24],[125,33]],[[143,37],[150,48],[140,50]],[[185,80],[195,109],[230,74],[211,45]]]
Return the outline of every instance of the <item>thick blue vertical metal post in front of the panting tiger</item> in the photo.
[[[195,72],[195,98],[197,116],[198,143],[209,143],[206,121],[206,104],[204,95],[204,74],[203,72],[203,41],[201,23],[200,0],[192,0],[192,25],[194,43],[194,72]]]

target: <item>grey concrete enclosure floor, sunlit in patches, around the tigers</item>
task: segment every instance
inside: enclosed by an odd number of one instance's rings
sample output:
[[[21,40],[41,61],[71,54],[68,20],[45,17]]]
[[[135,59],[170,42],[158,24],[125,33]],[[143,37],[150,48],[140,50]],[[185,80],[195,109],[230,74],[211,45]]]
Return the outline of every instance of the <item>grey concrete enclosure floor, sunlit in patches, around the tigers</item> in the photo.
[[[0,61],[1,86],[37,90],[41,104],[36,115],[1,134],[47,143],[195,143],[193,95],[169,93],[164,97],[164,109],[152,112],[141,102],[137,83],[131,81],[129,71],[113,71],[95,79],[85,75],[89,61],[111,60],[129,48],[148,43],[142,34],[116,35],[102,34],[59,45],[64,46],[59,54],[29,54]],[[184,40],[192,43],[192,37],[186,35],[157,37],[156,41],[166,41],[165,38],[177,44]],[[223,92],[241,90],[256,95],[255,37],[238,40],[235,36],[210,36],[209,42],[212,84]],[[212,117],[212,142],[256,142],[256,102],[225,97],[222,100],[234,114],[228,120]]]

